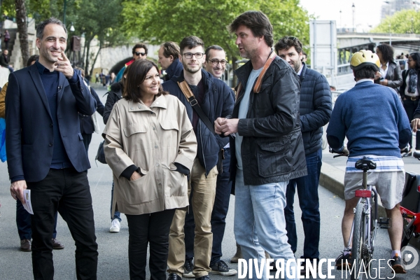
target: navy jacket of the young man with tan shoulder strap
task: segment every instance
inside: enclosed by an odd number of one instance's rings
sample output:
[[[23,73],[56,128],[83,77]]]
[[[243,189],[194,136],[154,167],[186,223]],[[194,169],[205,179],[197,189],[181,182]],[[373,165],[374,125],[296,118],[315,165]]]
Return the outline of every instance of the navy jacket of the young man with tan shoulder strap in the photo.
[[[204,98],[200,107],[207,115],[211,123],[214,123],[216,118],[230,117],[233,110],[234,100],[232,89],[226,85],[222,80],[214,78],[207,71],[202,71],[202,80],[204,83]],[[187,101],[181,88],[177,82],[181,83],[184,80],[183,71],[181,76],[174,77],[165,83],[162,83],[163,89],[170,94],[176,96],[186,106],[188,118],[193,123],[193,107]],[[193,92],[195,93],[195,92]],[[207,128],[207,126],[200,119],[197,125],[197,158],[200,164],[206,169],[206,176],[210,170],[217,165],[218,153],[229,142],[229,137],[220,137],[215,135]]]

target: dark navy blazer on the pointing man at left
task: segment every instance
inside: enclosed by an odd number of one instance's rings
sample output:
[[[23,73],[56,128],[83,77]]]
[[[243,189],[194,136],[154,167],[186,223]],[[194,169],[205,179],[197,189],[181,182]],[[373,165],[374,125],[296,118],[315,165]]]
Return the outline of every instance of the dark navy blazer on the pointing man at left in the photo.
[[[78,112],[92,115],[96,102],[83,83],[69,83],[59,73],[57,118],[64,148],[78,172],[90,168]],[[50,106],[36,64],[10,73],[6,92],[6,153],[10,180],[25,176],[29,182],[45,179],[50,170],[53,131]]]

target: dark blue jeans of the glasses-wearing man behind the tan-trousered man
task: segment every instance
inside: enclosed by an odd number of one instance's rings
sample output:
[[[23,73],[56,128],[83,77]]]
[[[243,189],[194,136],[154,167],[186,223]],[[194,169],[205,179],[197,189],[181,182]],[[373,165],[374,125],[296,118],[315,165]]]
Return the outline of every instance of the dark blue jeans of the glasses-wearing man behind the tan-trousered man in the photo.
[[[222,241],[225,235],[226,215],[228,215],[230,190],[232,182],[229,181],[230,148],[225,148],[225,159],[223,160],[223,172],[218,174],[216,183],[216,197],[214,199],[213,211],[211,211],[211,232],[213,232],[213,247],[211,249],[210,265],[214,265],[222,257]],[[190,202],[191,205],[191,202]],[[186,241],[186,260],[194,258],[194,215],[193,207],[186,215],[184,226]]]

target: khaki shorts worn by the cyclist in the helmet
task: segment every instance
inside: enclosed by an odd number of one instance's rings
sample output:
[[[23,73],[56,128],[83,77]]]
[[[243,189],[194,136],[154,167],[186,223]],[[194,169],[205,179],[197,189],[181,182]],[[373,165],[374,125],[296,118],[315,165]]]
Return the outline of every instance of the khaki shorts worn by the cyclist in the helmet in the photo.
[[[363,172],[346,173],[344,176],[344,198],[350,200],[355,196],[356,190],[362,188]],[[393,209],[402,200],[404,190],[405,172],[368,172],[367,186],[375,186],[382,206]]]

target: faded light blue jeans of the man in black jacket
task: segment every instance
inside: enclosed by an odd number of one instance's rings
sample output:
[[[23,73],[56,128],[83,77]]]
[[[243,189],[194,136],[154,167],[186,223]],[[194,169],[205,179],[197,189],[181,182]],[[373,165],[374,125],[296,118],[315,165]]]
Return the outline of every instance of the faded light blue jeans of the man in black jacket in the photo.
[[[244,174],[240,169],[237,169],[235,181],[234,231],[244,259],[256,258],[260,264],[265,259],[264,251],[267,251],[271,258],[283,259],[285,264],[289,259],[295,260],[287,243],[283,213],[288,181],[259,186],[244,185]],[[295,261],[290,263],[291,269],[296,269]],[[265,274],[264,267],[261,279],[267,279]],[[296,272],[292,274],[295,274],[293,279],[297,279]],[[257,279],[255,267],[252,279]]]

